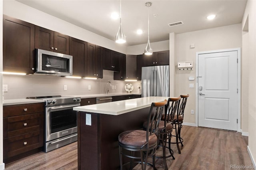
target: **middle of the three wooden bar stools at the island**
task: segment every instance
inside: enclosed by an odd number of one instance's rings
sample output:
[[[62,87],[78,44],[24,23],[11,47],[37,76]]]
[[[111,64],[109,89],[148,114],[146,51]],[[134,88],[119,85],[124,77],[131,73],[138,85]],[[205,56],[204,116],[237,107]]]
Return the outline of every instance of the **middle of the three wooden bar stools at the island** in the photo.
[[[172,138],[172,128],[173,128],[173,121],[174,115],[176,113],[178,103],[180,101],[179,97],[172,97],[168,99],[166,112],[162,115],[162,119],[158,126],[158,140],[159,146],[162,146],[163,152],[162,156],[156,156],[156,158],[163,158],[164,160],[164,169],[168,170],[166,158],[172,156],[172,159],[175,159],[173,156],[173,150],[171,149],[171,138]],[[168,147],[167,145],[168,141]],[[166,155],[166,148],[168,148],[170,154]]]

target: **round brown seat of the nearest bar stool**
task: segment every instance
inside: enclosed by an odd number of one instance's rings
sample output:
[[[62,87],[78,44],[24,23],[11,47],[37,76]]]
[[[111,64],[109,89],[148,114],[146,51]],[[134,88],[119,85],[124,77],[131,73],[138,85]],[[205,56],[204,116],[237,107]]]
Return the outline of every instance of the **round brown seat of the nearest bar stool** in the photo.
[[[145,130],[128,130],[118,135],[118,141],[123,147],[127,148],[146,148],[146,136],[147,131]],[[157,144],[157,136],[151,135],[148,140],[149,147],[155,147]],[[143,147],[142,147],[143,149]]]

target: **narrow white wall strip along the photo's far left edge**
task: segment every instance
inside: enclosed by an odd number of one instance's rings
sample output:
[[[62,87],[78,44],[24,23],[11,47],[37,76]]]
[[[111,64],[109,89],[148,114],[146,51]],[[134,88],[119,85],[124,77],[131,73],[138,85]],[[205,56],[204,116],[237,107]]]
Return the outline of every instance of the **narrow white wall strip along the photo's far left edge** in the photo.
[[[3,1],[0,0],[0,170],[4,169],[3,163],[3,101],[2,101],[2,71],[3,71]]]

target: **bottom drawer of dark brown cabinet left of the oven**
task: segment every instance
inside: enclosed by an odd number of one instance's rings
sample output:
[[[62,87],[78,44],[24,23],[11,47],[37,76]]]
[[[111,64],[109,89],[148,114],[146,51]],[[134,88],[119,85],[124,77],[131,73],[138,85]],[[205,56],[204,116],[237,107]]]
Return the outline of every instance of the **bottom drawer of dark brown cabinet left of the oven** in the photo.
[[[4,139],[4,159],[44,146],[44,130]]]

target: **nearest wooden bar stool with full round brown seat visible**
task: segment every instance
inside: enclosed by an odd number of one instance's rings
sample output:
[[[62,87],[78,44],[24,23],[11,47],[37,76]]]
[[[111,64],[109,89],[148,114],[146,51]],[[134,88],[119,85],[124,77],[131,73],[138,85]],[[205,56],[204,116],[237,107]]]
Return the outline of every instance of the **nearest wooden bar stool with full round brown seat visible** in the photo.
[[[130,164],[132,169],[133,163],[141,163],[142,170],[146,170],[148,156],[152,156],[153,164],[150,165],[156,170],[155,156],[158,143],[156,133],[166,104],[167,100],[151,104],[146,130],[128,130],[118,135],[120,170],[127,164]],[[126,153],[125,150],[130,152]],[[135,156],[134,152],[139,152],[140,157]],[[131,158],[131,161],[123,164],[122,156]]]

